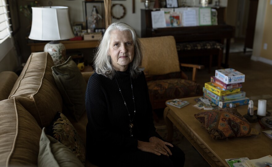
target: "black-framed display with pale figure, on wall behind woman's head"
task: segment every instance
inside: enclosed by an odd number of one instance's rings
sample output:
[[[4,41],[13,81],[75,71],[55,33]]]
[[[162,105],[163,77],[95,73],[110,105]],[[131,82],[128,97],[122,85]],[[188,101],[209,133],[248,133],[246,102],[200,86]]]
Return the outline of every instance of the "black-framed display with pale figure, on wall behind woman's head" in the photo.
[[[84,1],[87,30],[105,28],[104,1]]]

